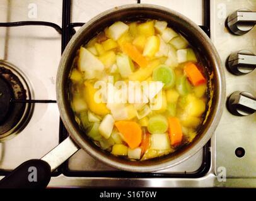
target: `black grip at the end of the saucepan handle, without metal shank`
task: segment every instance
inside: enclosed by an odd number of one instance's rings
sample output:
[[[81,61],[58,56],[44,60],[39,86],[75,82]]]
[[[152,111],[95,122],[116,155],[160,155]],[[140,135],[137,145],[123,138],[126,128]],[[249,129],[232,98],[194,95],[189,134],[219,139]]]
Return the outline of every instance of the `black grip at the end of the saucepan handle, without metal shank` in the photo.
[[[0,181],[0,188],[45,188],[50,182],[50,165],[40,159],[28,160]]]

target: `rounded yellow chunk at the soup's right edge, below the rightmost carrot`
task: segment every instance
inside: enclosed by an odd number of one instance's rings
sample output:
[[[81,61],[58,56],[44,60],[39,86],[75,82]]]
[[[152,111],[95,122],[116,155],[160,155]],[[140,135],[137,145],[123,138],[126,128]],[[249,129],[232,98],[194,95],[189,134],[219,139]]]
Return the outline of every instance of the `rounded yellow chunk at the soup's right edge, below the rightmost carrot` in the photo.
[[[189,116],[199,117],[206,110],[206,104],[203,100],[197,99],[194,95],[187,96],[186,113]]]

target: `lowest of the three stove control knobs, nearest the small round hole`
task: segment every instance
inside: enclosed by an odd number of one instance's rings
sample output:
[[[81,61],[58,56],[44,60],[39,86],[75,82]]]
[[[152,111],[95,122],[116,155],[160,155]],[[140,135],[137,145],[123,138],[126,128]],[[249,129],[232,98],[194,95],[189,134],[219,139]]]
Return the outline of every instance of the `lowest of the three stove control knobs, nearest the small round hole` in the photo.
[[[248,116],[256,111],[256,99],[249,92],[234,92],[228,98],[228,110],[236,116]]]

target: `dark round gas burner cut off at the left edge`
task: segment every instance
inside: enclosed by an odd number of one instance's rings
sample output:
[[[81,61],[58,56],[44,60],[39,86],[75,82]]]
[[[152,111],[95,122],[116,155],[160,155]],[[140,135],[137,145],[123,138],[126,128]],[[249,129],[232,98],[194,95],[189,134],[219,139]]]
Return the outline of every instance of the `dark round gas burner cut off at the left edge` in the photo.
[[[14,100],[31,99],[25,76],[18,68],[0,60],[0,142],[25,128],[32,115],[32,104]]]

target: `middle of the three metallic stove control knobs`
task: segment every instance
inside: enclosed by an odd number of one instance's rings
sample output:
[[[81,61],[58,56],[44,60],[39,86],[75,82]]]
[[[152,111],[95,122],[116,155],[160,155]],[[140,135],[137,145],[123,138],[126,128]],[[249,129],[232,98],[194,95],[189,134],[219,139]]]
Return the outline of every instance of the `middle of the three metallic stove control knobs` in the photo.
[[[248,50],[232,53],[228,57],[228,70],[235,75],[245,75],[256,68],[256,55]]]

